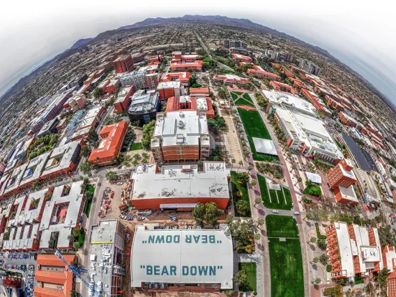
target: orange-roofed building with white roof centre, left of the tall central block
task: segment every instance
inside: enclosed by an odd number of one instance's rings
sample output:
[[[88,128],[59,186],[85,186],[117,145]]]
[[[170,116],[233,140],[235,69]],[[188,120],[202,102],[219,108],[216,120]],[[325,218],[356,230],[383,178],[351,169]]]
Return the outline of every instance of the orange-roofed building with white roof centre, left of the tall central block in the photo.
[[[126,132],[128,131],[128,123],[122,121],[112,125],[105,125],[100,131],[102,141],[99,147],[94,149],[89,155],[88,162],[92,165],[109,165],[112,160],[116,160],[116,156],[121,151]]]

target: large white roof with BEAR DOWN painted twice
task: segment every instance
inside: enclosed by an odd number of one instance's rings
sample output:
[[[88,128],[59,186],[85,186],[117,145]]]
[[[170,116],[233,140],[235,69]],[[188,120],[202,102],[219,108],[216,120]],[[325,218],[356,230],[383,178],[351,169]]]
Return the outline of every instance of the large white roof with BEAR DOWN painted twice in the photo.
[[[232,289],[233,268],[231,236],[226,236],[223,229],[136,227],[131,256],[132,287],[142,287],[142,282],[165,282],[220,284],[221,289]]]

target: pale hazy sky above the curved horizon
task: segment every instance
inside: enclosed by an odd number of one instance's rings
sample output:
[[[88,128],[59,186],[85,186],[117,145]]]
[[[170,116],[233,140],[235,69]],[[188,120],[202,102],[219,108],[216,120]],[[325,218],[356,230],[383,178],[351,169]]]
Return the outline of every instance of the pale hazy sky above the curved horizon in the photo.
[[[321,3],[326,2],[326,3]],[[2,1],[0,95],[81,38],[146,17],[246,18],[318,45],[396,103],[394,1]]]

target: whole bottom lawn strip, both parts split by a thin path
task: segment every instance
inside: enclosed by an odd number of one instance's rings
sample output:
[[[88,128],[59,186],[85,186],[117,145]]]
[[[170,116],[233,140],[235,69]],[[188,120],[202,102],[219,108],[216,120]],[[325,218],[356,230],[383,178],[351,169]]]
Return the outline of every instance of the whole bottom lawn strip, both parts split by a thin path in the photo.
[[[303,257],[296,220],[287,215],[267,215],[271,266],[271,296],[303,297]]]

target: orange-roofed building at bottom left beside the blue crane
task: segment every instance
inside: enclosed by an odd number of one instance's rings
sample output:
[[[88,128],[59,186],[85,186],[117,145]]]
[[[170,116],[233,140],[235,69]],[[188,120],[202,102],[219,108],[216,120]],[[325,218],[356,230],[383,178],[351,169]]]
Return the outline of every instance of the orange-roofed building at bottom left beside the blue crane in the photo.
[[[75,261],[74,254],[65,254],[69,264]],[[38,254],[38,269],[34,275],[37,286],[34,287],[36,297],[71,297],[74,274],[54,254]]]

